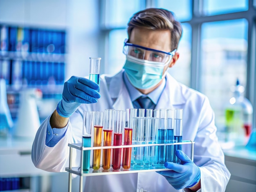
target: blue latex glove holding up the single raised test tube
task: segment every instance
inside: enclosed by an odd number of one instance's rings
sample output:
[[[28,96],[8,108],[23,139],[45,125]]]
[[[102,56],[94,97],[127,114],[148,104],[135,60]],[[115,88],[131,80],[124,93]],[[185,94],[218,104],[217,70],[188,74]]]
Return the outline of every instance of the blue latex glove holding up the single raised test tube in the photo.
[[[57,105],[57,112],[63,117],[70,117],[81,103],[97,103],[99,85],[93,81],[72,76],[64,83],[62,100]]]

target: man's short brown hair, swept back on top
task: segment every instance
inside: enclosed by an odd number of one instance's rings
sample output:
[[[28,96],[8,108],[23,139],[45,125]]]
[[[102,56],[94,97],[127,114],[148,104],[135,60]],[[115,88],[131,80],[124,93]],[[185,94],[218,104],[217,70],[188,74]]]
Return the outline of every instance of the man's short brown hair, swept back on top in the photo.
[[[166,9],[148,8],[135,13],[128,22],[128,37],[132,29],[140,27],[143,29],[168,29],[171,31],[171,50],[177,49],[182,27],[180,22],[175,20],[171,11]]]

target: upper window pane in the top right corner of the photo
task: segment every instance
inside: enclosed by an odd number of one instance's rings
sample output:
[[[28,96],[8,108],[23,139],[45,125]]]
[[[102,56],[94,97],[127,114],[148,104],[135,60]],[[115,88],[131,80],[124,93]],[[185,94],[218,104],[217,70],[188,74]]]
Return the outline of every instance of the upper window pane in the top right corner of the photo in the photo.
[[[248,10],[248,0],[203,0],[205,15],[218,15]]]

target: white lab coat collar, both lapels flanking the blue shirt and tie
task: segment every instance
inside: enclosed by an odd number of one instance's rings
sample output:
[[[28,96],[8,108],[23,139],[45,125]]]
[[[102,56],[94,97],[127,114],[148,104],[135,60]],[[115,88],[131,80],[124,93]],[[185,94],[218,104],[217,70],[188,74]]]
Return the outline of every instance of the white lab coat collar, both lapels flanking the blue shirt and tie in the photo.
[[[124,69],[122,69],[118,74],[113,76],[110,80],[110,96],[114,100],[113,108],[119,109],[119,106],[125,106],[126,109],[133,108],[131,99],[124,100],[124,98],[130,98],[128,90],[124,84],[123,80]],[[182,92],[182,85],[178,83],[170,74],[166,74],[166,87],[159,98],[156,109],[171,108],[174,105],[182,105],[186,103],[186,98]]]

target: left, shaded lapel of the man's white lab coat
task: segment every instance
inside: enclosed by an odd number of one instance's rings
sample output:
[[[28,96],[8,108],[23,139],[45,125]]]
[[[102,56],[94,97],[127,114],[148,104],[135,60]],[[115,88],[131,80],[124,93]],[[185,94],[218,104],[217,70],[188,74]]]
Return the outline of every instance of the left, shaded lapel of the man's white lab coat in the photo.
[[[125,110],[133,108],[130,94],[126,89],[126,85],[123,79],[124,69],[120,71],[110,80],[110,96],[113,103],[113,109]]]

